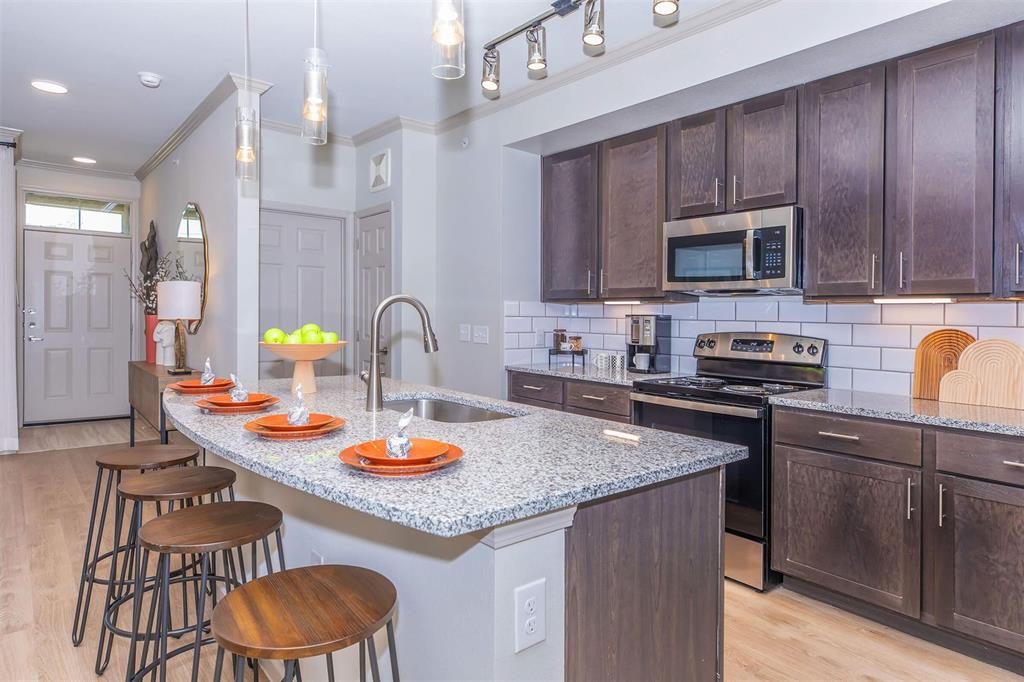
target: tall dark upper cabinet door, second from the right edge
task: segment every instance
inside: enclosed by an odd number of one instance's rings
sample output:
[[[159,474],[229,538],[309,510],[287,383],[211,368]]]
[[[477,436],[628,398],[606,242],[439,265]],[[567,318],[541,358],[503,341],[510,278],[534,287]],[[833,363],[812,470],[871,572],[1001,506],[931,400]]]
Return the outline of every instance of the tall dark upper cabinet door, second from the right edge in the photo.
[[[995,41],[898,59],[886,127],[886,294],[992,291]]]

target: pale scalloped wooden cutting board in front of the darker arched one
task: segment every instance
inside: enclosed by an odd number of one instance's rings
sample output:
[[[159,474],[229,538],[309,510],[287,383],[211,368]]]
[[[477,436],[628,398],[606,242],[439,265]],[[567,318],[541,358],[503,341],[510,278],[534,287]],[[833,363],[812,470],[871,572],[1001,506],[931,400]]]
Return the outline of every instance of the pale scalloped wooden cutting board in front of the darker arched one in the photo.
[[[1024,348],[1002,339],[971,344],[942,378],[939,399],[1024,410]]]

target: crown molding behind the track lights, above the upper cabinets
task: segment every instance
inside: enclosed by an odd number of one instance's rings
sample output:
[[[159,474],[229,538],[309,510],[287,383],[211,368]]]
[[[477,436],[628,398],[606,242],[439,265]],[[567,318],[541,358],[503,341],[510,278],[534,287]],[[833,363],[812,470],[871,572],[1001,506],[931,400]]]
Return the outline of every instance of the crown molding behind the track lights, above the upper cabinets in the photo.
[[[453,114],[434,126],[435,132],[445,133],[455,130],[473,121],[521,104],[534,97],[539,97],[552,90],[575,83],[606,69],[626,63],[644,54],[659,50],[705,31],[710,31],[778,2],[781,2],[781,0],[729,0],[692,16],[687,16],[672,29],[659,30],[657,33],[617,47],[614,50],[609,50],[600,57],[588,59],[554,76],[549,76],[542,81],[537,81],[518,90],[502,95],[497,99],[481,102],[458,114]]]

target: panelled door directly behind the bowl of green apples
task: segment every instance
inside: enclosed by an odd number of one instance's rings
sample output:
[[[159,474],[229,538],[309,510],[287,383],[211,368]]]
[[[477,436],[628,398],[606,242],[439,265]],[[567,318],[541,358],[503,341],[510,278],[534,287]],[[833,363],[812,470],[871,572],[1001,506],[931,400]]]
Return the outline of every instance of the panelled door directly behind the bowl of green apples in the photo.
[[[305,323],[327,332],[341,332],[341,218],[260,211],[259,326],[286,333]],[[239,292],[245,296],[244,292]],[[342,374],[342,353],[315,364],[318,376]],[[259,376],[292,376],[292,363],[260,349]]]

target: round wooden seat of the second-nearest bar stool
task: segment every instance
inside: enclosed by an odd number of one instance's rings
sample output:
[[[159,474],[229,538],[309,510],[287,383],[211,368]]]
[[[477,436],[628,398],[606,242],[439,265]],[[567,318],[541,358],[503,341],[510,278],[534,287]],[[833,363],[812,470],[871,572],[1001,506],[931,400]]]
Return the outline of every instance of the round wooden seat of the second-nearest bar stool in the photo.
[[[176,509],[146,521],[138,538],[151,551],[202,554],[266,538],[281,527],[282,518],[280,509],[262,502],[218,502]]]

